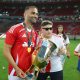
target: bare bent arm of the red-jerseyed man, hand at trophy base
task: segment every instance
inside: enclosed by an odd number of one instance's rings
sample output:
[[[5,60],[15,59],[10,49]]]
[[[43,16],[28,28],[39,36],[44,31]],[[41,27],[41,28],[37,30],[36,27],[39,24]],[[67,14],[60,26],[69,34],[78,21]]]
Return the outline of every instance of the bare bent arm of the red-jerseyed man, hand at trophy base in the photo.
[[[17,64],[15,63],[12,55],[11,55],[11,45],[8,45],[6,43],[4,43],[4,52],[3,55],[5,56],[5,58],[7,59],[7,61],[14,67],[17,75],[21,78],[25,78],[25,73],[17,66]]]

